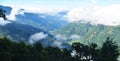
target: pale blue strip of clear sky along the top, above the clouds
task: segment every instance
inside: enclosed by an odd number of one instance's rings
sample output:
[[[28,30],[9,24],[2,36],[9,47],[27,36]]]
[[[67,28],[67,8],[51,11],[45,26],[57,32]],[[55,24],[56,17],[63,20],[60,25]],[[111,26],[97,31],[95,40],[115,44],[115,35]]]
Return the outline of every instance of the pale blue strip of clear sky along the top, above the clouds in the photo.
[[[120,4],[120,0],[2,0],[1,5],[40,8],[77,8]]]

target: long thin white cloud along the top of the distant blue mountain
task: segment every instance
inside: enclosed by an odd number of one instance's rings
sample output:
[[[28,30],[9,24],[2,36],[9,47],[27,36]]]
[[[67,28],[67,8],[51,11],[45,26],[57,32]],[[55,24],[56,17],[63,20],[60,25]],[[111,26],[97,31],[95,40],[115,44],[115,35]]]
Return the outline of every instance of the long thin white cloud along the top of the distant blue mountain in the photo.
[[[47,14],[47,15],[57,15],[61,11],[67,11],[68,9],[59,8],[59,9],[50,9],[50,8],[38,8],[38,7],[17,7],[11,6],[12,11],[10,15],[7,15],[9,20],[15,21],[17,18],[15,15],[21,14],[24,15],[24,12],[29,13],[38,13],[38,14]]]

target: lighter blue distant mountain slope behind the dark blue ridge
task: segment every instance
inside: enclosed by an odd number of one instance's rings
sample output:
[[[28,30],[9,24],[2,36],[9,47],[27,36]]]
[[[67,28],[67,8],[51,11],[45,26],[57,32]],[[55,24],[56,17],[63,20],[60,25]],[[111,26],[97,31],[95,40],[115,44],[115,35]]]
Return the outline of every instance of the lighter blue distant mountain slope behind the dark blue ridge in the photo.
[[[24,15],[16,15],[16,22],[27,24],[45,31],[58,29],[67,24],[67,21],[62,19],[60,15],[47,15],[40,13],[25,12]]]

